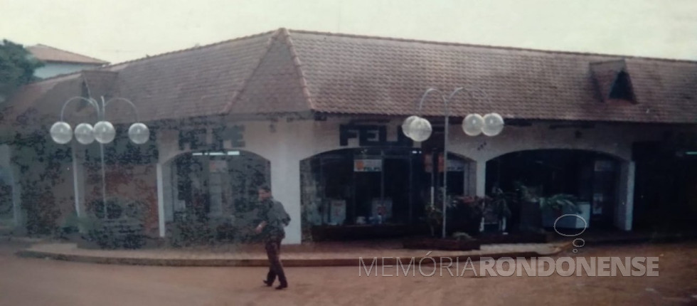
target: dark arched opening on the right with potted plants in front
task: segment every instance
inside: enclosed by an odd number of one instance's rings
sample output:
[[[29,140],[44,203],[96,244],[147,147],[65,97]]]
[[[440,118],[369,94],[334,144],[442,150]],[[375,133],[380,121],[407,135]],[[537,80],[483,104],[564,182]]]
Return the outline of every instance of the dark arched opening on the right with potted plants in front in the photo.
[[[590,228],[613,228],[621,196],[621,162],[609,154],[578,149],[511,152],[486,163],[486,189],[499,187],[514,193],[525,189],[537,197],[570,195],[580,204],[582,215],[588,208]],[[520,205],[511,207],[510,228],[523,222]]]

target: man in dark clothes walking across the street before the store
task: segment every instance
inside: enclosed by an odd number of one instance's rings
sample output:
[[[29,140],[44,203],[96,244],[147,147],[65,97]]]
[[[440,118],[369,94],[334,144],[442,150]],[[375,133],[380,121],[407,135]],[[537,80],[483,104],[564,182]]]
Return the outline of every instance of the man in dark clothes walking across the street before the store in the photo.
[[[284,227],[290,223],[290,216],[286,213],[281,202],[273,199],[271,189],[268,186],[259,188],[259,211],[261,222],[256,232],[262,235],[265,241],[266,254],[269,257],[269,273],[264,283],[271,287],[278,277],[280,285],[276,289],[288,287],[286,275],[280,259],[281,241],[285,238]]]

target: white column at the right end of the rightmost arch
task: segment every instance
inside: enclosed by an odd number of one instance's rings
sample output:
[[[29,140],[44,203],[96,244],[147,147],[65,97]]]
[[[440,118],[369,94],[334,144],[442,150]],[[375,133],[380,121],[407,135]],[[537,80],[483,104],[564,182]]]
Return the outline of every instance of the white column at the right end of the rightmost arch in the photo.
[[[632,231],[635,167],[634,162],[622,162],[619,168],[619,188],[617,188],[617,205],[614,210],[614,226],[624,231]]]

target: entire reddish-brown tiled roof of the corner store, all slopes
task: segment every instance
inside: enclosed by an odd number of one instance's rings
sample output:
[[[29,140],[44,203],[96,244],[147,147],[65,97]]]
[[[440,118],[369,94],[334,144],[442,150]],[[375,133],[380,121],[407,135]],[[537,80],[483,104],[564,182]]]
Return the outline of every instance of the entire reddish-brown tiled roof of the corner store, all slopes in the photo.
[[[629,74],[635,103],[603,102],[620,68]],[[481,88],[489,100],[460,93],[450,105],[455,117],[697,121],[697,62],[687,60],[280,29],[95,71],[28,85],[3,115],[12,121],[32,108],[57,117],[63,101],[87,83],[94,97],[132,100],[142,121],[298,112],[406,116],[427,88],[449,93],[464,85]],[[442,115],[440,103],[429,97],[425,115]],[[132,122],[126,106],[110,105],[110,120]]]

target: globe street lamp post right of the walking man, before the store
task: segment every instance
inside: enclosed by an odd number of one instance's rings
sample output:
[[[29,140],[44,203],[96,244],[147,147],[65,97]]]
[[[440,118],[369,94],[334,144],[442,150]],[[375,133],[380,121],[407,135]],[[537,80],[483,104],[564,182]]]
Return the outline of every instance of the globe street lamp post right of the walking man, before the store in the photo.
[[[487,102],[489,102],[489,105],[491,105],[491,102],[489,101],[489,96],[484,93],[484,90],[481,89],[467,89],[467,88],[455,88],[455,90],[452,91],[449,95],[445,95],[442,93],[440,90],[437,90],[436,88],[428,88],[426,92],[423,94],[421,97],[421,100],[419,101],[419,108],[417,111],[418,115],[413,115],[408,117],[406,120],[404,120],[402,124],[402,130],[404,134],[409,137],[410,139],[413,139],[415,142],[423,142],[426,139],[428,139],[431,136],[431,133],[433,132],[433,129],[431,127],[431,123],[426,120],[425,118],[421,117],[421,112],[423,108],[423,102],[428,96],[428,94],[432,92],[438,92],[440,93],[440,97],[443,100],[443,109],[445,111],[445,143],[443,144],[443,228],[442,228],[442,237],[446,237],[445,233],[445,223],[446,223],[446,215],[447,215],[447,169],[448,169],[448,159],[447,159],[447,153],[448,153],[448,127],[449,127],[449,109],[448,109],[448,103],[452,100],[452,97],[459,93],[460,91],[464,90],[465,92],[469,93],[470,97],[474,98],[473,90],[477,90],[479,93],[484,95],[486,97]],[[504,130],[504,118],[501,117],[501,115],[497,114],[496,112],[492,112],[489,114],[484,115],[483,117],[479,114],[469,114],[467,117],[464,117],[464,120],[462,120],[462,131],[467,134],[468,136],[477,136],[479,134],[485,134],[486,136],[496,136],[501,131]],[[435,167],[434,167],[435,168]],[[435,169],[433,170],[435,171]]]

